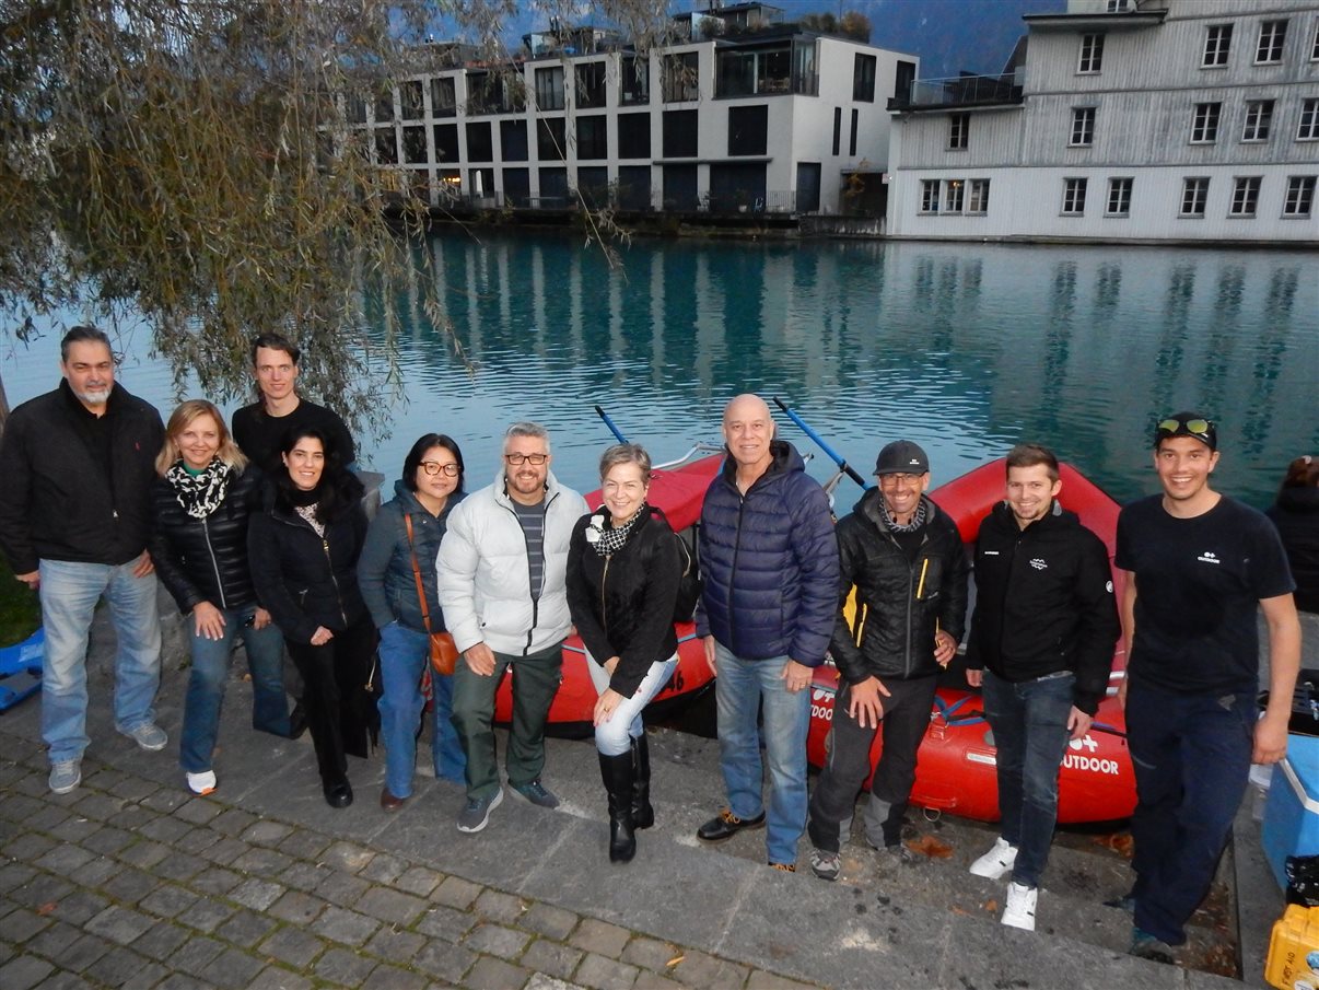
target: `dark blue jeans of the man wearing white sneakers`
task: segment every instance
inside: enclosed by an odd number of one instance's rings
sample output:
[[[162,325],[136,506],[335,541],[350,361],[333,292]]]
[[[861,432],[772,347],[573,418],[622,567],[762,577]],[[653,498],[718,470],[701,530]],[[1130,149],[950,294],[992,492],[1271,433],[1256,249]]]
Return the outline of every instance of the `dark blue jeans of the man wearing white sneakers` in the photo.
[[[1005,681],[985,671],[981,696],[998,747],[1002,837],[1017,846],[1012,879],[1038,887],[1058,822],[1058,767],[1067,751],[1067,718],[1076,676]]]

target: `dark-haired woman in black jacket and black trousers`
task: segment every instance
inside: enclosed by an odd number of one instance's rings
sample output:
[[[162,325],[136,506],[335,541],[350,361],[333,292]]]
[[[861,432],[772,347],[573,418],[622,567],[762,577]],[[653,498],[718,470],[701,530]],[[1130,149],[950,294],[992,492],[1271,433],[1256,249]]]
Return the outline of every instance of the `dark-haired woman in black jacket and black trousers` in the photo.
[[[294,429],[281,446],[266,508],[248,528],[252,579],[306,684],[303,705],[331,808],[352,804],[346,754],[365,756],[379,726],[376,627],[357,589],[367,536],[361,483],[330,438]]]

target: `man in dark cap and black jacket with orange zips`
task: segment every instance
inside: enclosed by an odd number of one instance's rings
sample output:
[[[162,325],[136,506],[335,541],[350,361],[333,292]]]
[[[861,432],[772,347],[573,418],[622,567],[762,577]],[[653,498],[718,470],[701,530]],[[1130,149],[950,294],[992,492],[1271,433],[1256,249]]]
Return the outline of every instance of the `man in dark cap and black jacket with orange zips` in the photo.
[[[828,763],[811,796],[811,870],[840,873],[842,822],[871,771],[871,747],[882,727],[884,751],[865,838],[906,855],[902,816],[915,783],[915,759],[930,723],[939,671],[962,639],[967,614],[967,554],[958,525],[926,495],[930,461],[900,440],[880,451],[869,490],[838,524],[842,607],[830,652],[839,671]],[[848,599],[853,610],[848,616]]]

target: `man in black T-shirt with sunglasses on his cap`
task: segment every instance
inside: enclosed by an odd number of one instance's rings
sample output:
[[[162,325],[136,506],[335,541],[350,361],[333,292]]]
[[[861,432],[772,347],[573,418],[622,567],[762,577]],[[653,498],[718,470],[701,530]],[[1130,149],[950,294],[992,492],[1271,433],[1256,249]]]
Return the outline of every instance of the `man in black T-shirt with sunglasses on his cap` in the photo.
[[[1126,739],[1136,767],[1130,953],[1173,962],[1204,899],[1252,763],[1287,752],[1301,667],[1295,585],[1277,531],[1210,487],[1217,430],[1186,412],[1154,430],[1161,495],[1117,520],[1126,572]],[[1257,611],[1269,631],[1269,706],[1256,709]]]

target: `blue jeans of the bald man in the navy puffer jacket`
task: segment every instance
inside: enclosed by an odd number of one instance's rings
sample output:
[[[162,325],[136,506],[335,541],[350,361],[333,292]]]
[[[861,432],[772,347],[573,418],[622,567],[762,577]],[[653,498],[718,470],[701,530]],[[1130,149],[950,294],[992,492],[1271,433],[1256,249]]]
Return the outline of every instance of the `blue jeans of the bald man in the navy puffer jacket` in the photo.
[[[811,692],[787,692],[782,678],[786,656],[743,660],[715,644],[715,704],[719,710],[719,763],[728,788],[728,807],[739,818],[765,809],[761,795],[761,731],[756,715],[764,704],[765,758],[769,760],[769,814],[765,845],[772,863],[795,863],[797,842],[806,829],[806,731]]]

